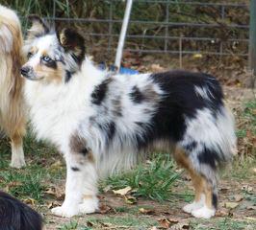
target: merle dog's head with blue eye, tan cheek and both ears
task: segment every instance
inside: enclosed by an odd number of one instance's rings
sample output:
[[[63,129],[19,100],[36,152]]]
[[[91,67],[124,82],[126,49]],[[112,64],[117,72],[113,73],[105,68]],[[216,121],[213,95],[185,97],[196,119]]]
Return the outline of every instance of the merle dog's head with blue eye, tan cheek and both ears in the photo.
[[[84,37],[67,28],[51,31],[36,15],[29,18],[32,27],[24,46],[28,61],[22,66],[21,75],[32,81],[69,81],[85,58]]]

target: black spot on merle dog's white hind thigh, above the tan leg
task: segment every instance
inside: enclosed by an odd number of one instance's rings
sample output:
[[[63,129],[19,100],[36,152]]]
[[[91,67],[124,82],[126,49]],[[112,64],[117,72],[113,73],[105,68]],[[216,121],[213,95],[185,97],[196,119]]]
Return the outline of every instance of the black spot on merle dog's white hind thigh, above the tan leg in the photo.
[[[203,148],[203,150],[198,154],[198,161],[201,164],[209,165],[212,169],[217,168],[217,162],[219,161],[218,153],[215,150],[209,150]]]

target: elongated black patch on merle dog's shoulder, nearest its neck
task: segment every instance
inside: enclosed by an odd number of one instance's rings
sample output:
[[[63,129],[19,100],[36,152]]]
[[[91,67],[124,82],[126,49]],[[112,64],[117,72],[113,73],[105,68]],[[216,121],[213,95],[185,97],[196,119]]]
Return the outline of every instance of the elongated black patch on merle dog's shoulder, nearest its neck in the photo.
[[[92,104],[100,105],[102,103],[108,92],[108,86],[111,81],[111,79],[106,79],[95,87],[94,91],[91,93]]]

